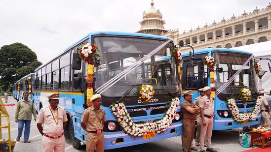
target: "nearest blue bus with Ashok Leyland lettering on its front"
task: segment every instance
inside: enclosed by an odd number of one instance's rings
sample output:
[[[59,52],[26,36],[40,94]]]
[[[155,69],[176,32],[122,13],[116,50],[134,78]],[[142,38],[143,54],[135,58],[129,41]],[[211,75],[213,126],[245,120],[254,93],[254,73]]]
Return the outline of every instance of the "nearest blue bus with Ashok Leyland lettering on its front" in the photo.
[[[125,70],[128,65],[142,59],[155,48],[169,39],[162,36],[126,33],[126,32],[91,32],[77,43],[67,48],[35,70],[35,108],[48,106],[52,93],[59,93],[59,106],[65,107],[68,124],[65,138],[70,138],[74,148],[81,148],[86,142],[86,132],[80,126],[83,111],[87,108],[87,64],[79,59],[77,47],[85,42],[98,46],[100,56],[94,65],[94,91],[107,83],[114,76]],[[102,108],[106,112],[104,123],[105,150],[127,147],[181,135],[182,121],[180,107],[171,125],[163,133],[152,133],[147,137],[132,137],[124,133],[113,116],[110,105],[120,98],[126,105],[134,122],[154,122],[164,116],[168,101],[180,98],[177,65],[171,52],[174,49],[170,41],[150,60],[142,63],[125,77],[116,82],[102,95]],[[167,57],[168,56],[168,57]],[[78,68],[79,67],[79,68]],[[137,88],[141,84],[151,84],[155,95],[149,104],[139,100]]]

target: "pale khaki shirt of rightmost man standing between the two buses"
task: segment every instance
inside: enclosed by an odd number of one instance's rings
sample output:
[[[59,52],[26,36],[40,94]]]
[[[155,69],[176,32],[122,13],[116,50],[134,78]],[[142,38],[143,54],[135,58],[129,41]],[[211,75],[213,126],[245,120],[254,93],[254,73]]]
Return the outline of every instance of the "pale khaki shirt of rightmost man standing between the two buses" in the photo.
[[[213,116],[214,114],[214,100],[210,96],[208,98],[204,95],[202,98],[199,99],[199,108],[203,108],[203,114],[207,116]]]

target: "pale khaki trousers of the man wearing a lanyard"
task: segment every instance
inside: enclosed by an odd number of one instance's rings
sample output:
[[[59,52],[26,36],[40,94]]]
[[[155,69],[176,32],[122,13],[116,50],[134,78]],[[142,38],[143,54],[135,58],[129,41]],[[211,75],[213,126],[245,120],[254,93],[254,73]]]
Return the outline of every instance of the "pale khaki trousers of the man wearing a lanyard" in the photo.
[[[64,135],[58,139],[52,139],[42,136],[42,152],[64,152],[65,138]]]

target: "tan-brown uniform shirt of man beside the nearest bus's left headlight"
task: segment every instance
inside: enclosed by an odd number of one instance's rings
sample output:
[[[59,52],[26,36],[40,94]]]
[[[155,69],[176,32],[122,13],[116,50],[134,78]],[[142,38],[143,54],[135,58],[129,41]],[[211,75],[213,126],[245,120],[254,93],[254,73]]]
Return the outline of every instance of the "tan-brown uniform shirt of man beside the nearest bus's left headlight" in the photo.
[[[94,107],[87,108],[81,119],[82,123],[86,123],[86,131],[96,131],[104,128],[106,122],[105,110],[99,108],[95,110]]]

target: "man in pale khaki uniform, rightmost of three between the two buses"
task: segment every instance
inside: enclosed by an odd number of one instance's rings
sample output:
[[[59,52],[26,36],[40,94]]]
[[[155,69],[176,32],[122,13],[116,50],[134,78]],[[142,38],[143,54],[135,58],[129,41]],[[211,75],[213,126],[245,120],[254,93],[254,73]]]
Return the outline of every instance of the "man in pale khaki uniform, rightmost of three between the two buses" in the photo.
[[[200,115],[202,125],[200,129],[200,152],[205,152],[204,142],[205,136],[207,140],[207,152],[217,152],[212,148],[211,138],[213,132],[213,114],[214,114],[214,99],[211,97],[211,88],[204,87],[205,95],[199,99]]]

